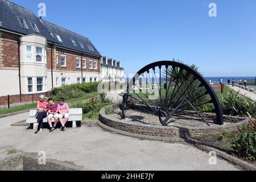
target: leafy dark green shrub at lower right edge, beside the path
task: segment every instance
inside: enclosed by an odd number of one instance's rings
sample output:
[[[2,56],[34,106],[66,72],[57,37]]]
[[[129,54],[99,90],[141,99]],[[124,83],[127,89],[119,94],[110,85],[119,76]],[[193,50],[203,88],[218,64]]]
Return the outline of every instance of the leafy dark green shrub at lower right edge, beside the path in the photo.
[[[238,151],[239,156],[255,162],[256,133],[243,134],[239,139],[233,142],[232,148]]]

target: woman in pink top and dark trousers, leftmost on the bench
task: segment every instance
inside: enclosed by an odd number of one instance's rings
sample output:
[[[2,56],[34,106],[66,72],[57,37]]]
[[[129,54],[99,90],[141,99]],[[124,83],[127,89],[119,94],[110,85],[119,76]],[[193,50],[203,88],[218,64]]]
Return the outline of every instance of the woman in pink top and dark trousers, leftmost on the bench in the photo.
[[[36,123],[35,127],[37,127],[38,130],[35,132],[35,134],[41,134],[43,131],[43,119],[47,117],[49,107],[48,102],[46,102],[46,96],[39,96],[39,101],[36,103],[36,107],[38,110],[36,113],[36,119],[38,119],[38,122]]]

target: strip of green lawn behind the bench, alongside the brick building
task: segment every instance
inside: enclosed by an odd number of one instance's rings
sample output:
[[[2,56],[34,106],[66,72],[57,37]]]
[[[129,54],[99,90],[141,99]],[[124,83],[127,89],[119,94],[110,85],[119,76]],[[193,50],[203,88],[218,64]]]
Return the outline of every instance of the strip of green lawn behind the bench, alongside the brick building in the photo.
[[[85,96],[79,97],[79,98],[74,98],[72,100],[68,100],[68,103],[72,103],[72,102],[77,102],[77,101],[81,101],[81,100],[88,100],[90,98],[96,97],[98,95],[98,92],[92,92],[92,93],[88,93]],[[17,107],[11,107],[10,109],[3,109],[0,110],[0,115],[3,114],[9,114],[9,113],[14,113],[14,112],[18,112],[18,111],[23,111],[23,110],[29,110],[29,109],[34,109],[36,107],[36,104],[26,104],[23,106],[17,106]]]

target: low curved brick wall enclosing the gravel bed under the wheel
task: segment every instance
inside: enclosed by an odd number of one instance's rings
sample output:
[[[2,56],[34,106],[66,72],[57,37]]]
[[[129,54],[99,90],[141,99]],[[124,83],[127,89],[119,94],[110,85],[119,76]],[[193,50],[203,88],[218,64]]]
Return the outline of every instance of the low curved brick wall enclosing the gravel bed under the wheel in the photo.
[[[107,106],[112,107],[112,106]],[[166,142],[185,142],[187,138],[198,137],[203,134],[221,134],[224,131],[234,131],[248,122],[246,118],[224,116],[233,123],[223,126],[211,127],[174,127],[174,126],[153,126],[145,124],[134,124],[120,119],[112,118],[105,114],[105,108],[100,111],[100,122],[98,125],[106,130],[115,133],[128,135],[143,139],[160,140]]]

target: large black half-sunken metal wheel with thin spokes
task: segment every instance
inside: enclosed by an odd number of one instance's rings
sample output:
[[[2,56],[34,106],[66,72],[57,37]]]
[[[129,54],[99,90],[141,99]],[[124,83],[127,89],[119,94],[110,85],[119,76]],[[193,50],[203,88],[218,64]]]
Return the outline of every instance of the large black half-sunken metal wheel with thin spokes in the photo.
[[[127,86],[122,118],[129,103],[143,112],[158,115],[163,126],[180,114],[196,114],[209,126],[205,113],[215,115],[214,123],[224,124],[212,86],[193,66],[176,61],[159,61],[142,68]]]

